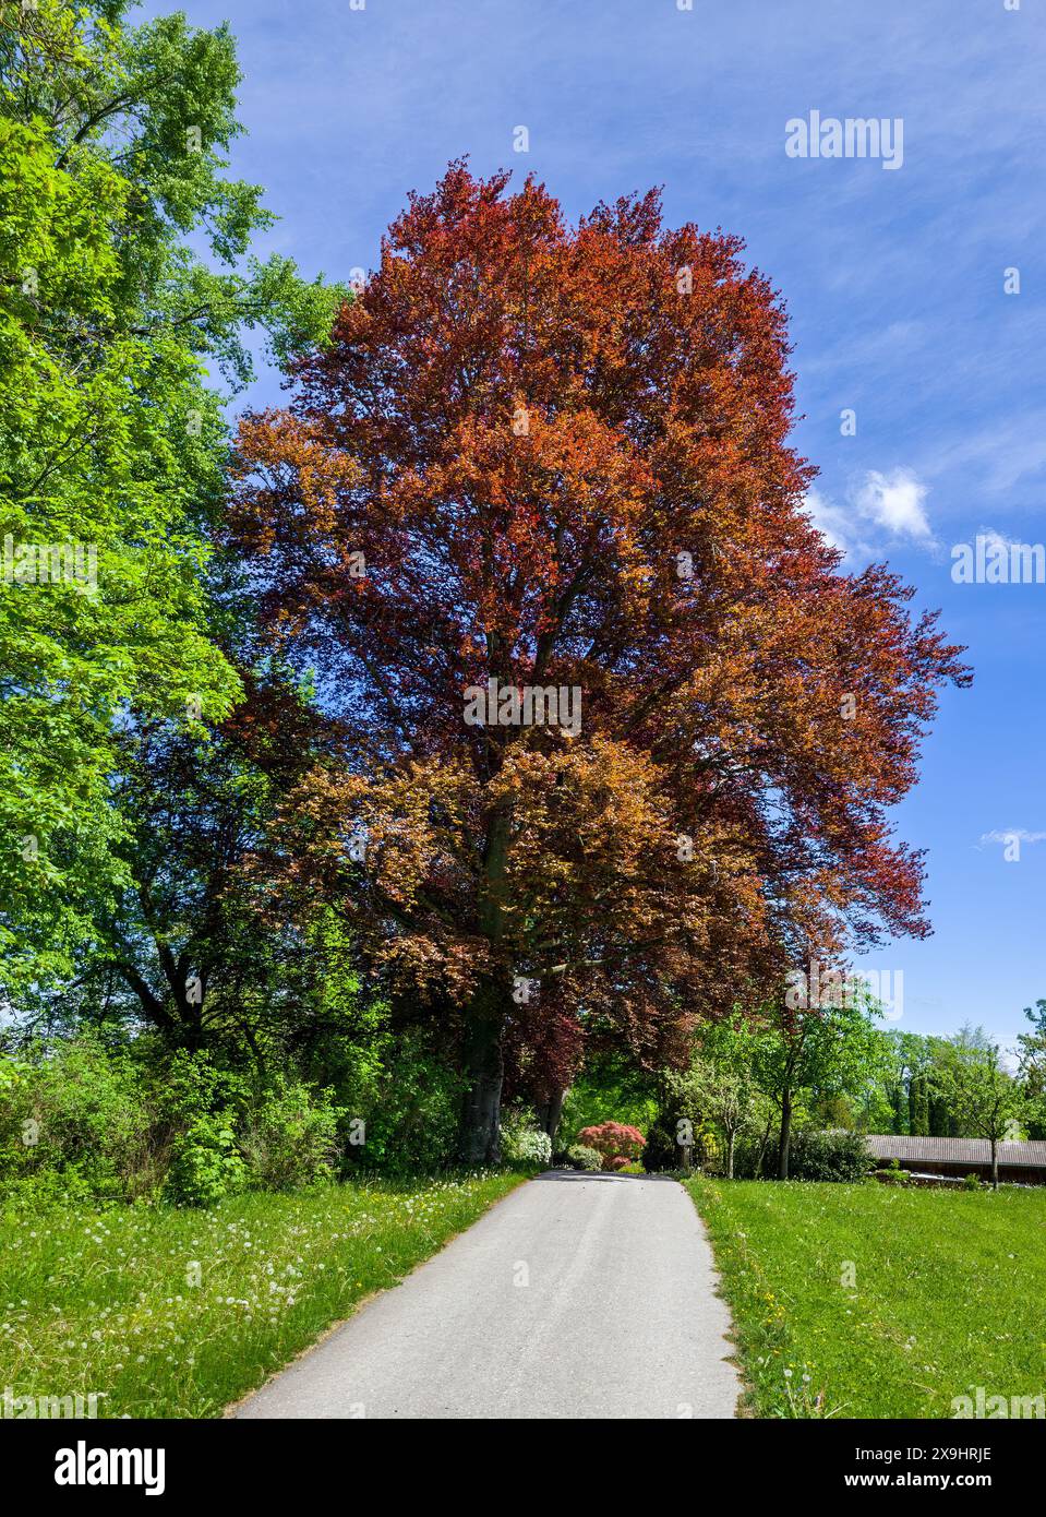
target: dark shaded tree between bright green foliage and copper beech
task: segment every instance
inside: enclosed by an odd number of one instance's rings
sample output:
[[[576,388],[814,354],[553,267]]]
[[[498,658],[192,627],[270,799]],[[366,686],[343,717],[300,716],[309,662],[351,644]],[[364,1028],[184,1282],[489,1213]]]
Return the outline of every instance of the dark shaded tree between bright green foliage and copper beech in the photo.
[[[321,925],[302,933],[267,918],[246,868],[288,775],[315,751],[317,724],[291,689],[255,680],[240,715],[214,730],[141,722],[120,739],[112,793],[127,886],[99,903],[76,991],[62,986],[59,1000],[82,1016],[146,1022],[168,1047],[246,1042],[264,1066],[315,1013],[329,975]]]

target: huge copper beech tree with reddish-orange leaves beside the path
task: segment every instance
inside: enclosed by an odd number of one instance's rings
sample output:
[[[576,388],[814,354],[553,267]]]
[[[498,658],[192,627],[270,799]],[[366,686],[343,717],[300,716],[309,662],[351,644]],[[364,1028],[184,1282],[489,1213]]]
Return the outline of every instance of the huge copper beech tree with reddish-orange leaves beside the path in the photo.
[[[928,931],[885,810],[969,677],[882,566],[840,572],[788,446],[785,314],[656,193],[576,228],[450,165],[240,434],[229,545],[340,748],[258,859],[447,1016],[461,1154],[506,1050],[653,1065],[816,942]]]

